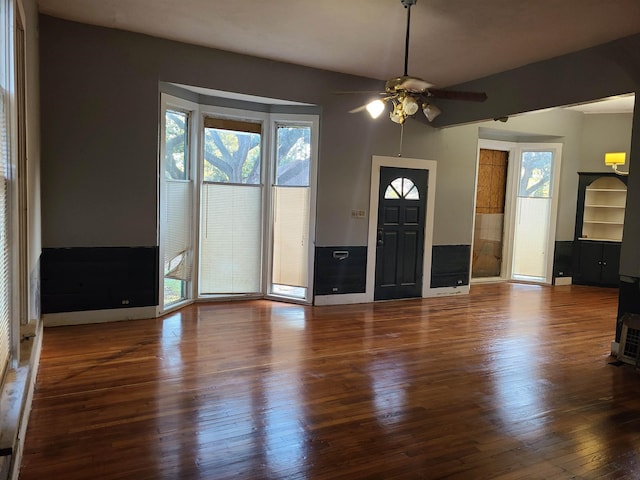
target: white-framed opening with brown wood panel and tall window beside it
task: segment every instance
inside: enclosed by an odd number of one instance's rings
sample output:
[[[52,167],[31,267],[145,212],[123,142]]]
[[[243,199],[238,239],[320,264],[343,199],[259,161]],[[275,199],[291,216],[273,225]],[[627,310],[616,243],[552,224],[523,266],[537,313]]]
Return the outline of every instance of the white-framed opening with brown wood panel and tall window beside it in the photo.
[[[551,284],[562,145],[480,140],[471,279]]]

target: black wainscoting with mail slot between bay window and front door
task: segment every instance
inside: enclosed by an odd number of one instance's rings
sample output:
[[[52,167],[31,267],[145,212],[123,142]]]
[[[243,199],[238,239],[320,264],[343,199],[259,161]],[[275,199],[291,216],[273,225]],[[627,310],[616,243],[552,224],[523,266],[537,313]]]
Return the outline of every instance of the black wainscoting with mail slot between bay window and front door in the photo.
[[[316,247],[314,293],[364,293],[367,247]]]

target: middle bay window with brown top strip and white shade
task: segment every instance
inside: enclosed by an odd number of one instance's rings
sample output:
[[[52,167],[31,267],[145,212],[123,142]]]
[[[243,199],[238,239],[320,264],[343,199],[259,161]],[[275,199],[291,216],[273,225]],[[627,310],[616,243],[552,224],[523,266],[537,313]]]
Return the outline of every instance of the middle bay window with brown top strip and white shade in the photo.
[[[261,142],[261,123],[204,119],[201,295],[261,292]]]

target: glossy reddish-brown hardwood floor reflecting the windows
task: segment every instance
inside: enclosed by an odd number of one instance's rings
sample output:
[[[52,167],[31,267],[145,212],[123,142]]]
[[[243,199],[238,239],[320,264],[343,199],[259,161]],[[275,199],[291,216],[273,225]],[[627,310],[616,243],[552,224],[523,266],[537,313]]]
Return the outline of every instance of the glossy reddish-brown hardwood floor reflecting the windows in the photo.
[[[46,329],[20,478],[640,478],[616,309],[497,284]]]

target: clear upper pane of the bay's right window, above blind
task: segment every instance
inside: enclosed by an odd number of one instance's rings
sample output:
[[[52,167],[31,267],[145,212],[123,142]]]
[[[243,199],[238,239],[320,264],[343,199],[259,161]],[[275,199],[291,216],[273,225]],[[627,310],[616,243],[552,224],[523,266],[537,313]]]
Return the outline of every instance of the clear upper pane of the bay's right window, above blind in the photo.
[[[311,128],[277,127],[276,185],[306,187],[311,164]]]

